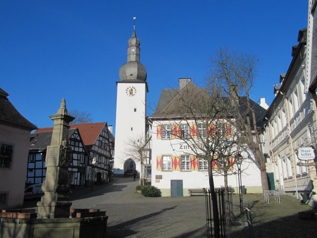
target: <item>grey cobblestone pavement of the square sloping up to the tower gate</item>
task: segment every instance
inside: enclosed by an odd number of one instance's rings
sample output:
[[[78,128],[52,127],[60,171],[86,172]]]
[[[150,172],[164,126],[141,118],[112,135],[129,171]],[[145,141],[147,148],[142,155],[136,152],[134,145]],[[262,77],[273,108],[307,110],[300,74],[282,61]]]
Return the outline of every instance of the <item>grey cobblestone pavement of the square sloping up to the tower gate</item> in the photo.
[[[114,181],[90,188],[74,188],[69,197],[72,208],[98,208],[109,216],[107,237],[207,237],[204,196],[146,198],[135,192],[138,181]],[[24,207],[35,207],[37,201]],[[233,195],[234,213],[240,214],[239,195]],[[312,210],[286,195],[281,204],[268,204],[258,194],[243,195],[243,205],[252,213],[255,237],[316,237],[315,220],[300,220],[299,211]],[[246,215],[238,216],[246,222]],[[228,237],[249,237],[245,226],[227,228]]]

